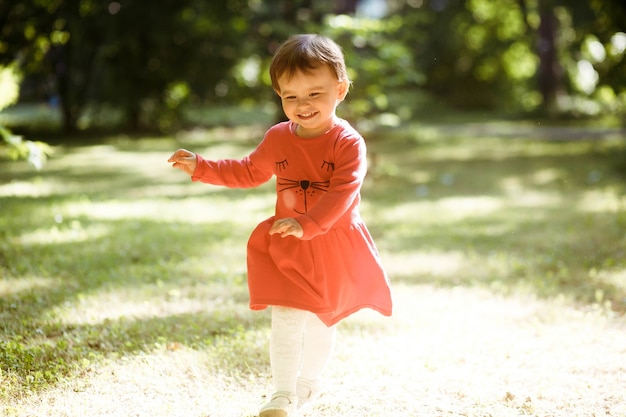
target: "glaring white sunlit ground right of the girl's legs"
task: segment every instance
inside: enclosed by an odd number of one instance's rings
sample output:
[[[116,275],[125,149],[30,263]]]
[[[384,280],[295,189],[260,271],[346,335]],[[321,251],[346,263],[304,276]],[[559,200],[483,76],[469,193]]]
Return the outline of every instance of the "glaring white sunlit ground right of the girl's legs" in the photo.
[[[626,358],[618,347],[626,343],[626,334],[601,315],[461,287],[397,285],[395,296],[393,318],[358,315],[346,323],[348,332],[358,332],[354,339],[344,334],[336,368],[331,366],[331,373],[338,374],[338,392],[326,403],[337,401],[336,410],[345,413],[336,415],[357,416],[353,410],[358,407],[362,415],[372,415],[367,412],[384,410],[389,399],[395,412],[387,415],[394,416],[482,416],[487,411],[571,416],[595,409],[597,401],[617,414],[626,410],[623,393],[611,389],[612,378],[624,378],[617,364]],[[350,392],[369,400],[341,403]],[[551,408],[555,398],[561,412]]]

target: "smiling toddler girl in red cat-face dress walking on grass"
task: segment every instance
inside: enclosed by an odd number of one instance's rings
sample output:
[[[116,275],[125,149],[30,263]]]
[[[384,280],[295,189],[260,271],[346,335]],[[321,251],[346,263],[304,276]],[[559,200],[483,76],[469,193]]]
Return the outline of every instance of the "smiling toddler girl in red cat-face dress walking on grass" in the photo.
[[[365,142],[335,115],[350,86],[341,48],[324,36],[293,36],[270,76],[289,121],[271,127],[249,156],[207,160],[179,149],[168,162],[193,181],[226,187],[276,177],[275,214],[248,241],[248,288],[250,308],[270,306],[272,316],[275,392],[259,417],[289,417],[319,392],[336,324],[366,307],[389,316],[392,301],[359,214]]]

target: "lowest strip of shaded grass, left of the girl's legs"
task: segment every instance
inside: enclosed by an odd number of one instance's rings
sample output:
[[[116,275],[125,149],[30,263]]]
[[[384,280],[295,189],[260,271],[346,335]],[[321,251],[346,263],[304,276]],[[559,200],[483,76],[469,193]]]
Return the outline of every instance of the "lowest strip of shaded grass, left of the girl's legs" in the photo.
[[[269,368],[267,340],[253,329],[267,328],[265,317],[240,314],[231,306],[219,313],[120,318],[100,324],[43,324],[33,333],[0,340],[6,388],[0,398],[49,389],[66,378],[85,375],[92,365],[109,359],[183,348],[207,351],[207,363],[216,370],[264,372]]]

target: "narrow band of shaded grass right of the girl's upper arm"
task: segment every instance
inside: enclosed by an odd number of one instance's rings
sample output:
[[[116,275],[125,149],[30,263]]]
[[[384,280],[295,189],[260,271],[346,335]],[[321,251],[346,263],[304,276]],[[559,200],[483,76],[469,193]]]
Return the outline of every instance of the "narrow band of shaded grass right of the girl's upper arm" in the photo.
[[[370,169],[365,195],[377,205],[393,205],[415,200],[438,200],[451,196],[493,196],[535,190],[554,195],[581,194],[602,187],[619,187],[621,179],[613,171],[614,155],[509,156],[469,160],[420,157],[419,148],[404,155],[390,154]],[[405,159],[399,161],[398,159]],[[393,161],[393,162],[392,162]]]

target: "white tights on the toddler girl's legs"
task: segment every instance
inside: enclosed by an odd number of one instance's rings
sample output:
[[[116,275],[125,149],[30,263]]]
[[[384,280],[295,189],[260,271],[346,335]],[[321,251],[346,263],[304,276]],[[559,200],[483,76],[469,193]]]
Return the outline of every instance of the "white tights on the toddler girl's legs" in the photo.
[[[296,392],[298,377],[319,378],[335,346],[336,326],[310,311],[272,307],[270,364],[276,391]]]

